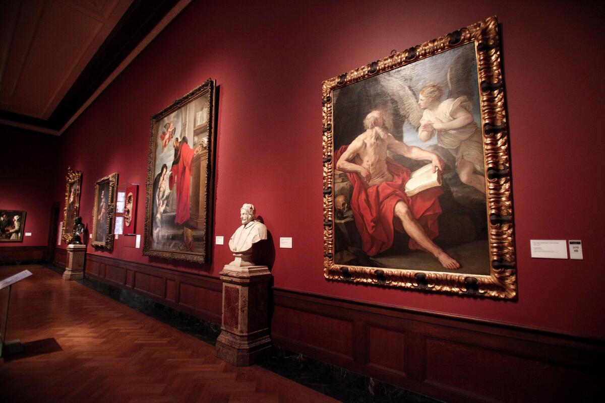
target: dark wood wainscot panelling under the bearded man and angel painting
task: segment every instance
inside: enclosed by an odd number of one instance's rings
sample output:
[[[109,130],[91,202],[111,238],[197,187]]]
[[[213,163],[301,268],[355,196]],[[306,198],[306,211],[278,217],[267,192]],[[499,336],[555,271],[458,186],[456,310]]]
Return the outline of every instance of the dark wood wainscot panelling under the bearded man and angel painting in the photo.
[[[605,340],[273,289],[278,346],[447,402],[591,401]]]

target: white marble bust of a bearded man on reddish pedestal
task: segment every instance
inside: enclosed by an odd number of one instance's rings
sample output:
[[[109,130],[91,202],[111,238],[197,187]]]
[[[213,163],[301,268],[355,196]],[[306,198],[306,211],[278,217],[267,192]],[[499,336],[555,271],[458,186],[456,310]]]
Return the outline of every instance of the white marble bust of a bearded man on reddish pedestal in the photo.
[[[254,205],[245,203],[240,208],[241,227],[229,239],[229,248],[234,252],[235,260],[229,265],[252,266],[250,261],[252,245],[260,240],[267,239],[267,227],[256,221],[256,208]]]

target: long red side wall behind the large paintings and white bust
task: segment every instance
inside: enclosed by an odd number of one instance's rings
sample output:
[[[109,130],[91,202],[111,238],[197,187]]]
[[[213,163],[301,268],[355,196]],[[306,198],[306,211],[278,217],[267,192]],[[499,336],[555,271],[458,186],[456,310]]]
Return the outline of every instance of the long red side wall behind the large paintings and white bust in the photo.
[[[503,26],[518,301],[327,282],[322,80],[492,15]],[[60,164],[84,173],[89,227],[96,179],[119,172],[120,184],[141,184],[142,233],[149,117],[212,77],[220,87],[214,234],[228,239],[241,204],[257,205],[276,245],[275,286],[605,337],[598,98],[605,60],[591,39],[602,17],[602,9],[566,3],[194,2],[62,135]],[[63,176],[56,175],[57,200]],[[292,249],[278,248],[284,236]],[[530,239],[581,239],[584,260],[531,259]],[[207,266],[148,259],[122,239],[113,252],[94,253],[212,276],[231,260],[227,245],[214,247]]]

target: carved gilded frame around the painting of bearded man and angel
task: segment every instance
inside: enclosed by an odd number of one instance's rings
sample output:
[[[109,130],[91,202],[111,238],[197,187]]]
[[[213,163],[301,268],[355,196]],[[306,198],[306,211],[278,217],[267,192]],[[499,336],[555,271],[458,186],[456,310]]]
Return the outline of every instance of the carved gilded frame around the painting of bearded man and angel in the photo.
[[[422,271],[351,266],[335,263],[335,146],[333,91],[418,60],[474,43],[479,80],[480,116],[485,155],[489,275],[457,274],[456,271]],[[514,232],[512,225],[511,175],[509,172],[508,124],[498,23],[495,17],[461,28],[408,50],[326,80],[322,84],[324,276],[330,280],[393,286],[420,291],[448,292],[492,298],[517,298]],[[477,122],[479,123],[479,122]],[[487,263],[487,260],[486,260]],[[487,272],[487,269],[485,269]]]

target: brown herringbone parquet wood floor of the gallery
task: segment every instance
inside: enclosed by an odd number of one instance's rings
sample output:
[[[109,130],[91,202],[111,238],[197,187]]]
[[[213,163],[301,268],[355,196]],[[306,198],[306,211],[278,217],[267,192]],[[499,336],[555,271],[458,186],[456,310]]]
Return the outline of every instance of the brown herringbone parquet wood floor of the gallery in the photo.
[[[237,368],[214,347],[39,265],[11,291],[0,359],[1,402],[336,402],[257,366]]]

